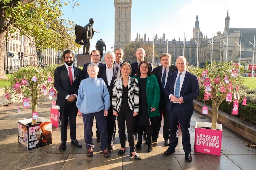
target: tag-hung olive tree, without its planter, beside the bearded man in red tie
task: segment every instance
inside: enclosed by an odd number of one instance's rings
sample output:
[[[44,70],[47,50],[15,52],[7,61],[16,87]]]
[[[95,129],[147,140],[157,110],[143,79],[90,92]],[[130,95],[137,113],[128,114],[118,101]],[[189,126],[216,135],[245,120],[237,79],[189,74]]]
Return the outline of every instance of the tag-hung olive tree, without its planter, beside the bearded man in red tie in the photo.
[[[37,100],[44,98],[42,87],[46,88],[46,92],[52,88],[54,80],[50,68],[32,66],[20,68],[10,78],[12,86],[5,87],[5,93],[9,93],[10,98],[14,100],[27,98],[32,103],[31,114],[33,114],[37,111]],[[32,119],[32,124],[36,124],[36,119]]]

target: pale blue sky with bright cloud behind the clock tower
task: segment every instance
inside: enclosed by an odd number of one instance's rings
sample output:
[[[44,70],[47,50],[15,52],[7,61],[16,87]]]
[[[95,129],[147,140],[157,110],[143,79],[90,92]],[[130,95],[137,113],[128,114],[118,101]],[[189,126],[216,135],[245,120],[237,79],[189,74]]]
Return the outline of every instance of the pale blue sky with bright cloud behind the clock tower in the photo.
[[[66,1],[67,2],[67,1]],[[81,5],[71,8],[64,5],[62,18],[70,19],[77,25],[85,26],[94,18],[93,28],[100,31],[91,40],[91,50],[102,38],[107,51],[114,44],[114,0],[77,0]],[[255,0],[132,0],[131,40],[137,33],[153,40],[153,32],[162,37],[163,33],[172,38],[189,41],[193,37],[196,15],[202,33],[208,38],[224,30],[227,10],[232,28],[255,28]]]

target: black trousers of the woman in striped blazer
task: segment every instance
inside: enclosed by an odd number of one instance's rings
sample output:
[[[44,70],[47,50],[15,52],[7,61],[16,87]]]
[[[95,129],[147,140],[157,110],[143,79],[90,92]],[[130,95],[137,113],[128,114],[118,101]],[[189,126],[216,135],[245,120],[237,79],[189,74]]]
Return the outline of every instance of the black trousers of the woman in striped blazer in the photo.
[[[130,146],[130,151],[134,152],[135,149],[135,136],[134,136],[134,121],[133,110],[118,112],[117,124],[118,124],[118,134],[120,138],[120,144],[122,148],[125,148],[125,121],[127,127],[127,136]]]

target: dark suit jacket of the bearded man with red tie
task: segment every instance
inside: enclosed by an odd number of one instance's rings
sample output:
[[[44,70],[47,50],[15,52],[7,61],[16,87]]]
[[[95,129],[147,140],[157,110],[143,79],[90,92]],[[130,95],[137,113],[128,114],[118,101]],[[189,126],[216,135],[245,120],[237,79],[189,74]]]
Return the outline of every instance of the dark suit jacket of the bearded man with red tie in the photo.
[[[58,91],[56,105],[64,106],[68,94],[78,93],[80,82],[83,78],[81,69],[74,66],[74,81],[71,85],[68,77],[68,70],[64,65],[57,67],[54,72],[54,87]],[[76,103],[76,101],[74,101]]]

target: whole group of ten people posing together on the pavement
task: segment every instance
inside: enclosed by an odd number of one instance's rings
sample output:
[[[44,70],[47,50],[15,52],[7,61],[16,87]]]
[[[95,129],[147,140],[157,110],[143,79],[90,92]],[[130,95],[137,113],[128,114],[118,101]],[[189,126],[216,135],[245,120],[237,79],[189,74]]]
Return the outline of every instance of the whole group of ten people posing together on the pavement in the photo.
[[[146,54],[142,48],[137,49],[137,61],[134,63],[125,63],[122,60],[123,55],[124,52],[120,48],[116,49],[115,53],[106,52],[106,64],[102,64],[99,63],[100,52],[93,50],[93,62],[84,64],[82,72],[72,65],[74,54],[69,50],[64,52],[65,65],[56,68],[54,81],[58,91],[56,104],[60,105],[61,112],[60,151],[66,148],[68,117],[71,144],[82,147],[76,140],[75,118],[78,108],[78,115],[82,116],[84,121],[88,157],[93,156],[94,117],[96,138],[101,142],[100,148],[104,157],[109,157],[108,151],[114,149],[117,118],[121,144],[118,155],[123,155],[126,151],[126,124],[130,156],[141,160],[135,148],[141,148],[142,135],[146,132],[147,151],[152,152],[152,142],[157,142],[163,115],[164,144],[169,146],[164,155],[175,152],[178,144],[176,133],[180,122],[185,159],[191,161],[188,128],[193,114],[193,99],[199,95],[199,87],[197,77],[186,70],[186,58],[178,57],[175,66],[171,64],[171,56],[163,53],[160,55],[162,65],[153,69],[152,64],[144,60]],[[135,133],[138,134],[136,147]]]

